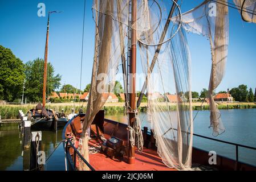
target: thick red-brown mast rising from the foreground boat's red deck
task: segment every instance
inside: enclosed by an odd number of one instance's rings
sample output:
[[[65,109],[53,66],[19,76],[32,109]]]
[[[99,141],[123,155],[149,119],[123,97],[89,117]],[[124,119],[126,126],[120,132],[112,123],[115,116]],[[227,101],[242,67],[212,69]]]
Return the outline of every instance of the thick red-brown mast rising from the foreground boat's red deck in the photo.
[[[137,19],[137,0],[132,0],[132,34],[131,34],[131,67],[130,75],[132,76],[132,90],[130,93],[130,107],[129,111],[129,125],[132,127],[133,122],[135,121],[135,110],[136,110],[136,44],[137,44],[137,35],[136,35],[136,19]],[[128,153],[128,163],[135,164],[135,147],[129,141],[129,153]]]

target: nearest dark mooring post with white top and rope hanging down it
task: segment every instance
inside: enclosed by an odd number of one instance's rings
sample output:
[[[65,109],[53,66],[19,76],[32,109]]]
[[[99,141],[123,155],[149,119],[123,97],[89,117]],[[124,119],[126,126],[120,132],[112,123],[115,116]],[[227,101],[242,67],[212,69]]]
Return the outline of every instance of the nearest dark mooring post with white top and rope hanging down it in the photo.
[[[42,131],[31,132],[30,170],[39,171],[38,152],[41,150]]]

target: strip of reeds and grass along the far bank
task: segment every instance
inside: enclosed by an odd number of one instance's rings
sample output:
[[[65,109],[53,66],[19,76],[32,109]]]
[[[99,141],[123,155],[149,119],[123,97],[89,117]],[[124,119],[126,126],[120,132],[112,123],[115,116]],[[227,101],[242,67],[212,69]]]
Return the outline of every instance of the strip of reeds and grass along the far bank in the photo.
[[[228,105],[228,106],[227,106]],[[141,104],[139,111],[144,112],[146,103]],[[2,105],[0,106],[0,115],[2,119],[17,119],[19,110],[22,110],[23,113],[26,113],[28,110],[33,109],[34,105]],[[47,108],[54,109],[55,111],[62,111],[64,113],[71,113],[71,110],[74,108],[75,112],[78,113],[79,109],[82,107],[83,111],[86,111],[87,104],[86,103],[62,103],[62,104],[49,104]],[[169,110],[177,110],[177,106],[175,103],[169,103]],[[161,110],[168,110],[168,107],[163,104],[161,106]],[[228,108],[227,108],[228,107]],[[193,110],[209,110],[208,104],[201,103],[193,103]],[[255,109],[256,104],[254,103],[221,103],[218,104],[218,109]],[[106,114],[117,114],[124,113],[124,103],[106,103],[104,106],[104,110]]]

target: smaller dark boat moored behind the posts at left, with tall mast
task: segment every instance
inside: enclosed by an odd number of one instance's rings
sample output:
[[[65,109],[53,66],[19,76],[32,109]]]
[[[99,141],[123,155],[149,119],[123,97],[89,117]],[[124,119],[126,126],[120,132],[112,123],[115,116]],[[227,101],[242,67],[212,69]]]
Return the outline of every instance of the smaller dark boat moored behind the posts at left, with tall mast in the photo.
[[[50,14],[58,13],[50,11],[48,13],[46,46],[44,50],[44,75],[43,75],[43,104],[38,104],[34,109],[27,112],[28,118],[31,120],[32,130],[51,130],[57,127],[64,126],[67,123],[67,118],[59,118],[59,114],[51,109],[46,109],[46,85],[47,85],[47,59],[48,59],[48,40],[50,28]]]

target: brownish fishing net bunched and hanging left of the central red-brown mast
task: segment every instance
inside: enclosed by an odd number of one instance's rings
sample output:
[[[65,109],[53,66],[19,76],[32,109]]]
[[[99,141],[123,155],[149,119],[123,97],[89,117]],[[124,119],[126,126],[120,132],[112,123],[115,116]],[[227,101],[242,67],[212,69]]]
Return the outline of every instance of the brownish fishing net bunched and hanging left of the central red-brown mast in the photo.
[[[147,1],[138,1],[140,11],[138,20],[140,31],[148,30]],[[83,121],[83,147],[82,154],[88,158],[87,129],[90,127],[95,115],[103,107],[109,93],[115,88],[117,68],[127,45],[129,26],[129,0],[94,0],[93,15],[95,28],[95,55],[92,68],[91,89],[88,99],[86,117]],[[141,12],[141,13],[140,13]],[[133,24],[132,28],[137,28]],[[84,164],[80,169],[88,169]]]

